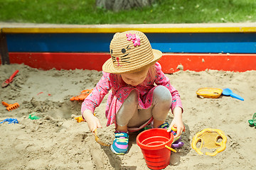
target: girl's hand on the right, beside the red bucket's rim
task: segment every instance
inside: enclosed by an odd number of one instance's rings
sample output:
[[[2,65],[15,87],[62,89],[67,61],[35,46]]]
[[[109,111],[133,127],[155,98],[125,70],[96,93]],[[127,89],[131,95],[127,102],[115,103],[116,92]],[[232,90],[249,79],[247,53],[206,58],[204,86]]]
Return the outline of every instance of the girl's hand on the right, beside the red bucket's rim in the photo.
[[[182,121],[182,110],[180,107],[174,108],[174,119],[171,121],[171,125],[168,128],[167,132],[171,132],[171,127],[177,129],[176,135],[174,138],[179,137],[181,133],[185,130],[185,126]]]

